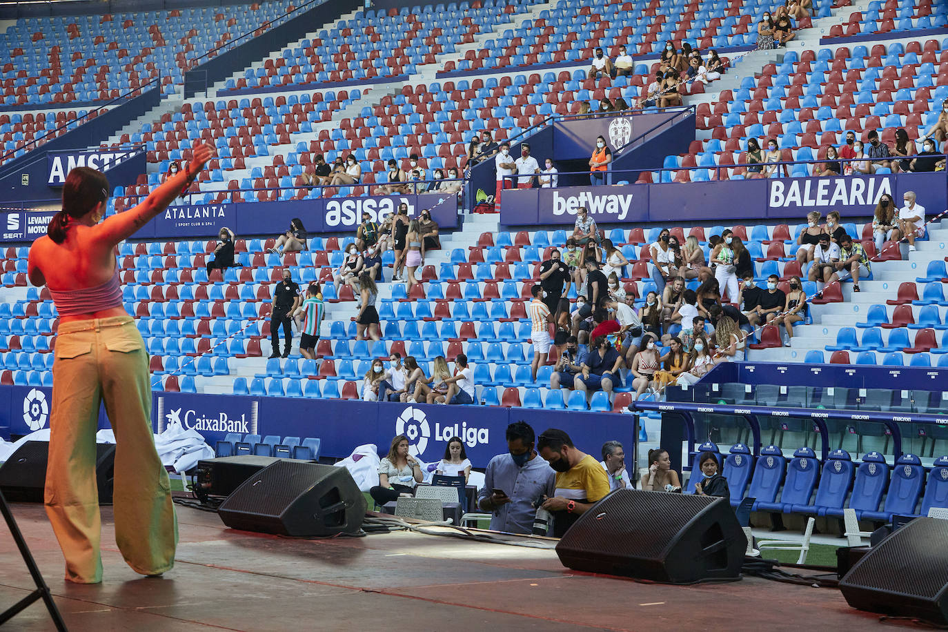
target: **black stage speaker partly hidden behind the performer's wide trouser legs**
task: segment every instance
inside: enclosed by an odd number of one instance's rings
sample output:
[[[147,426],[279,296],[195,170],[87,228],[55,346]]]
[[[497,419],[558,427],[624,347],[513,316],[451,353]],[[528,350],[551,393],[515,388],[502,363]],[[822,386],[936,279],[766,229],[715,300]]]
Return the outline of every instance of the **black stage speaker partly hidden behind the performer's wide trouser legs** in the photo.
[[[0,465],[0,489],[4,496],[16,502],[43,502],[48,456],[49,442],[26,442],[11,454]],[[115,444],[96,443],[96,483],[100,505],[112,504],[115,457]]]

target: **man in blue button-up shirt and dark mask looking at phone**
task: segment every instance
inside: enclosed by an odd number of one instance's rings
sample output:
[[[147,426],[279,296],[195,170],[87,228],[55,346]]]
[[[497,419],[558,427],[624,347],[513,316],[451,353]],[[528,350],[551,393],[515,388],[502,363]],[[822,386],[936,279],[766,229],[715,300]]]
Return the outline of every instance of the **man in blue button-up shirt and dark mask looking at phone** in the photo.
[[[492,514],[490,528],[506,533],[533,533],[537,501],[553,496],[553,471],[538,459],[536,434],[525,422],[507,426],[508,452],[487,463],[478,506]]]

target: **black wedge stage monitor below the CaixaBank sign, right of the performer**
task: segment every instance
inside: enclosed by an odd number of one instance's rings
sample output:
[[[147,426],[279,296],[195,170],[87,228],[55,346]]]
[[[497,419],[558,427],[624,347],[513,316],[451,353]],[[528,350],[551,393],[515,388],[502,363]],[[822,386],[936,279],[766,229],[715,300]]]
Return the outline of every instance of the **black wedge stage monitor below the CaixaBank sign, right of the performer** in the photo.
[[[278,460],[244,481],[217,513],[233,529],[281,535],[357,533],[365,497],[349,470]]]

